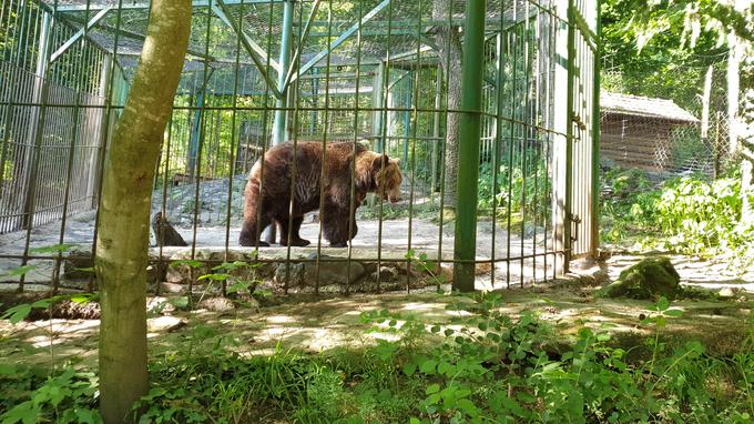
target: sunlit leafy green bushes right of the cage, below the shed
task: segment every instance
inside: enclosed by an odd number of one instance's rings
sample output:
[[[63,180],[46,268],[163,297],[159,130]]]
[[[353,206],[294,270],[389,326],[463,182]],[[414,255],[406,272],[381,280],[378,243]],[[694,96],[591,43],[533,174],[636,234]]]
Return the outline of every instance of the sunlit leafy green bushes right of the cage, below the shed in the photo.
[[[742,216],[736,175],[675,178],[655,188],[640,170],[613,169],[603,185],[604,242],[717,256],[733,267],[754,262],[754,222]]]

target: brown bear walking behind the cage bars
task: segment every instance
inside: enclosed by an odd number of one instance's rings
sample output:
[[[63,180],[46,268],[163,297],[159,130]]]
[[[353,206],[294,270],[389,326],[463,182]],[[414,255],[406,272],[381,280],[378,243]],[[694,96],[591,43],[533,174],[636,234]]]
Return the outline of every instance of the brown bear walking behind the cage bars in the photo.
[[[323,154],[324,153],[324,154]],[[296,163],[294,170],[294,161]],[[322,166],[325,166],[324,186]],[[400,200],[400,168],[397,160],[369,151],[360,143],[333,142],[323,149],[320,142],[292,142],[273,147],[262,161],[257,161],[248,174],[244,192],[244,224],[238,242],[242,246],[266,246],[259,241],[259,232],[271,223],[281,229],[281,244],[309,244],[298,234],[304,214],[319,209],[319,194],[324,194],[319,219],[324,235],[333,248],[345,248],[356,236],[356,216],[350,213],[351,164],[354,171],[354,212],[361,205],[367,193],[378,193],[393,203]],[[291,204],[292,174],[293,205]],[[293,213],[289,213],[292,211]],[[291,220],[293,216],[293,220]],[[350,234],[348,230],[350,228]]]

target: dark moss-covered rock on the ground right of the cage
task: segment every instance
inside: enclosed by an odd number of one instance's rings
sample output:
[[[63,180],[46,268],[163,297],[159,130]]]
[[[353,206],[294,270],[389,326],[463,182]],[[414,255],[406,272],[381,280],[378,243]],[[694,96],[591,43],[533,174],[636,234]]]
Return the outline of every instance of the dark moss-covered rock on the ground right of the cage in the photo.
[[[621,272],[619,279],[597,292],[598,297],[673,300],[683,291],[681,276],[668,258],[648,258]]]

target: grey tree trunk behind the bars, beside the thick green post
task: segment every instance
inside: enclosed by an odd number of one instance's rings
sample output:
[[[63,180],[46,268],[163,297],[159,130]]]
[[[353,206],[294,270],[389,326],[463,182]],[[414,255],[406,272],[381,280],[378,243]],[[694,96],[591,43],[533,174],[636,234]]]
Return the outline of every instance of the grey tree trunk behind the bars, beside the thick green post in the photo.
[[[447,75],[448,110],[461,108],[461,59],[462,48],[458,27],[450,24],[448,17],[451,0],[435,0],[432,3],[432,19],[440,21],[436,27],[437,55]],[[456,206],[456,182],[458,180],[458,130],[460,115],[449,112],[445,129],[445,206]]]

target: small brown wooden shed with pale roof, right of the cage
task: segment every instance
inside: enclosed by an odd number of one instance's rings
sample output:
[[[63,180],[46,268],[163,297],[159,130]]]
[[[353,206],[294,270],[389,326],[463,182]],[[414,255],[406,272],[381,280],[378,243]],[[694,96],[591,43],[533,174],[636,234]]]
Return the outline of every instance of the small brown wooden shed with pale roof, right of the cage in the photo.
[[[673,134],[699,120],[672,100],[602,91],[600,154],[623,168],[671,171]]]

